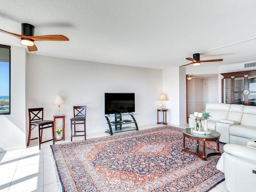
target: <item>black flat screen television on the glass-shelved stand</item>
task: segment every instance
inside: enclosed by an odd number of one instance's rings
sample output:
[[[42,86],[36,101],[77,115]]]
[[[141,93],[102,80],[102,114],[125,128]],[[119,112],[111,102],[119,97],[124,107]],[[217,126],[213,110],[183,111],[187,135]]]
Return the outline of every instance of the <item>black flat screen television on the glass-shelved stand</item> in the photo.
[[[105,93],[105,114],[135,112],[134,93]]]

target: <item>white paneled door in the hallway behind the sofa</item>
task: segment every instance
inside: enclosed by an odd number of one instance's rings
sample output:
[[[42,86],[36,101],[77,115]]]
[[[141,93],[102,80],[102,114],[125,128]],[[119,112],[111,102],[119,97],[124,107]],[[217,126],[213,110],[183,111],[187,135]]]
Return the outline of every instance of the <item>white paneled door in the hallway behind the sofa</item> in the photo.
[[[218,103],[218,79],[205,80],[205,103]]]

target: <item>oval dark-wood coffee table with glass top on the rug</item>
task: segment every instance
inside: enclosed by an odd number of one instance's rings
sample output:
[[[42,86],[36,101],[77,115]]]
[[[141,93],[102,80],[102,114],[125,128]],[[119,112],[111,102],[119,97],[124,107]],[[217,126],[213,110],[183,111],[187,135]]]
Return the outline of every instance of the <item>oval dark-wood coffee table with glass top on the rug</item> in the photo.
[[[190,138],[196,140],[196,146],[193,146],[191,148],[185,148],[185,138]],[[209,156],[212,155],[221,155],[220,153],[220,133],[213,131],[211,134],[197,134],[191,132],[191,128],[183,129],[183,151],[190,152],[192,154],[195,154],[196,156],[200,157],[202,160],[206,160]],[[202,146],[199,144],[199,141],[202,141]],[[217,141],[217,150],[211,150],[205,148],[205,142],[206,141]]]

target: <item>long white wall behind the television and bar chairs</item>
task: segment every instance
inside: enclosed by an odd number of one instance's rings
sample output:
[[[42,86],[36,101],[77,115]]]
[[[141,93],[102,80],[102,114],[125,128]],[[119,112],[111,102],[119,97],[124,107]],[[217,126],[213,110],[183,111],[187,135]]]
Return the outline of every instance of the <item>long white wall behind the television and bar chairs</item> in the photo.
[[[52,119],[58,114],[58,106],[53,102],[60,94],[65,102],[60,113],[66,115],[66,136],[70,136],[70,118],[76,105],[87,106],[87,134],[108,128],[104,117],[105,92],[135,93],[138,126],[157,122],[162,70],[28,54],[26,72],[27,109],[44,107],[44,119]]]

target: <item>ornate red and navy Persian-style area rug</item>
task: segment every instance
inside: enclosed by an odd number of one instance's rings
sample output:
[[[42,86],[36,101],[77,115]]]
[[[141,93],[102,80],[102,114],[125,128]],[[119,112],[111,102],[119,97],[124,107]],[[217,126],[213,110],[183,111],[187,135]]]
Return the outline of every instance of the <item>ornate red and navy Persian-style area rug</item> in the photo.
[[[224,180],[220,156],[203,161],[182,142],[182,129],[163,126],[50,147],[64,192],[206,192]]]

